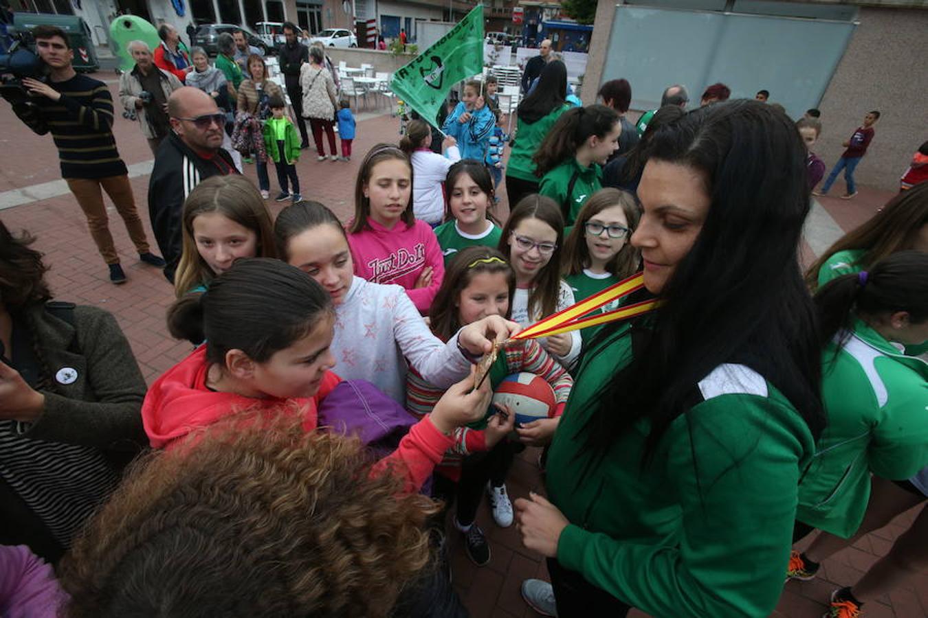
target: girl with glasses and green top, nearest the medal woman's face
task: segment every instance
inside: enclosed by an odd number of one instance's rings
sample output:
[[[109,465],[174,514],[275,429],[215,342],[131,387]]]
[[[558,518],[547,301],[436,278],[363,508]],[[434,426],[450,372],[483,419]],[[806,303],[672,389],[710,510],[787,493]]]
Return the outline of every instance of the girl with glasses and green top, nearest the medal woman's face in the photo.
[[[564,244],[564,281],[577,301],[598,294],[638,271],[640,252],[628,242],[638,225],[638,200],[618,189],[600,189],[586,202]],[[612,302],[601,311],[616,309]],[[586,344],[599,329],[585,328]]]

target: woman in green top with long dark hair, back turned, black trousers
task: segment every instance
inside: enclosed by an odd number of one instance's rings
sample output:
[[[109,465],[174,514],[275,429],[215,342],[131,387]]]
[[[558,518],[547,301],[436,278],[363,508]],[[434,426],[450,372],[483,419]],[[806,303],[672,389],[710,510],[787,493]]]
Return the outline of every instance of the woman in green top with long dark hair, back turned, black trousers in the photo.
[[[532,158],[554,123],[570,109],[566,98],[567,67],[561,60],[552,60],[542,69],[535,90],[516,109],[516,138],[506,167],[509,208],[515,208],[525,195],[538,193]]]

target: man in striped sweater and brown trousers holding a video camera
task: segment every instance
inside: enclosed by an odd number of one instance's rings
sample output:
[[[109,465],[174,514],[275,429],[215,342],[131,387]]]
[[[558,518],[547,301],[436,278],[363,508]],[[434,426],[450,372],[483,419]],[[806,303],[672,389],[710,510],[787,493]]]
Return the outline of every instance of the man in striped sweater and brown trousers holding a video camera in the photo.
[[[74,71],[71,42],[60,28],[36,26],[32,36],[48,69],[48,81],[24,78],[22,85],[29,94],[28,100],[15,103],[13,111],[33,132],[39,135],[51,132],[55,139],[61,176],[84,210],[90,235],[110,267],[110,281],[125,283],[125,273],[113,245],[101,189],[110,195],[122,217],[139,259],[163,267],[164,260],[148,250],[128,170],[113,139],[110,90],[105,83]]]

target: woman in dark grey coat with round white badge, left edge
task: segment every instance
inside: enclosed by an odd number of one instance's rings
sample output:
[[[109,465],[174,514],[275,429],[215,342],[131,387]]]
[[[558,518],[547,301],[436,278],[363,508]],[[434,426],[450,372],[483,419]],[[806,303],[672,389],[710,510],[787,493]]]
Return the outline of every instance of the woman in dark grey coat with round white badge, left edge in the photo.
[[[146,385],[110,313],[49,302],[31,243],[0,222],[0,544],[57,561],[148,444]]]

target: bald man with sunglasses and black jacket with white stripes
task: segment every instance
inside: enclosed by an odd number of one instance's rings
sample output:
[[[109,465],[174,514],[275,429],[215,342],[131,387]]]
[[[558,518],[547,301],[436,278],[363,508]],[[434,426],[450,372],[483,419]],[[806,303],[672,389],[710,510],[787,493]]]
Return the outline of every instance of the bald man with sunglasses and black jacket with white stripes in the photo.
[[[184,86],[168,98],[171,133],[161,143],[148,181],[148,216],[167,260],[164,276],[174,283],[181,254],[184,200],[211,176],[237,174],[223,149],[226,114],[199,88]]]

